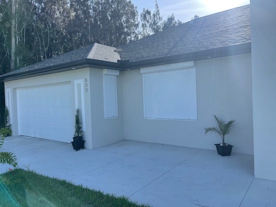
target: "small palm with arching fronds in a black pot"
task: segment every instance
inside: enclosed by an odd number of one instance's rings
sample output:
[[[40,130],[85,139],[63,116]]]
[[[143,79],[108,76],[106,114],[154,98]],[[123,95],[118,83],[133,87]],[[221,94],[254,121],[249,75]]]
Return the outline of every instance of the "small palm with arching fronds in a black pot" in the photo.
[[[230,120],[230,121],[226,122],[225,120],[218,118],[216,115],[214,115],[214,118],[217,122],[217,126],[204,128],[205,134],[207,134],[208,132],[218,134],[222,139],[222,143],[215,144],[216,148],[217,148],[217,152],[221,156],[229,156],[229,155],[231,155],[233,146],[225,143],[224,137],[225,137],[225,135],[230,133],[232,125],[235,122],[235,120]]]

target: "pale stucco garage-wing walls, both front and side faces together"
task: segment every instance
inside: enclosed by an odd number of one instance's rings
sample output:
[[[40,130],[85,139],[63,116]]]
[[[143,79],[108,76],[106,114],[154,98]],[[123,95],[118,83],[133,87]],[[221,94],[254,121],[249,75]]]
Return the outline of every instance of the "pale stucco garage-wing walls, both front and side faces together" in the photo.
[[[81,108],[84,113],[82,129],[86,140],[85,147],[89,149],[97,148],[123,139],[121,77],[117,76],[118,117],[105,119],[102,71],[102,69],[85,68],[5,82],[6,103],[8,103],[11,114],[13,135],[19,135],[17,88],[70,82],[72,102],[75,106],[72,108],[72,114],[75,114],[75,108],[77,107]],[[82,83],[82,89],[79,92],[76,92],[76,82]],[[83,97],[78,93],[82,93]],[[76,99],[78,100],[76,101]],[[76,107],[77,104],[79,106]],[[84,107],[84,110],[82,110],[82,107]],[[72,129],[72,133],[73,131],[74,129]],[[70,137],[70,140],[72,137]]]

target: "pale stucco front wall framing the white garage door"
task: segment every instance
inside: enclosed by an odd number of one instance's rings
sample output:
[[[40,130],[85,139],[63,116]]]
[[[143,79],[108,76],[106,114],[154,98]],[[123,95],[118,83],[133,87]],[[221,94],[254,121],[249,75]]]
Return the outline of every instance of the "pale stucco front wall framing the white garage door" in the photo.
[[[80,94],[76,94],[77,92],[75,91],[75,80],[83,80],[84,82],[85,79],[89,80],[88,68],[5,82],[6,103],[11,115],[13,135],[19,135],[18,122],[17,122],[17,116],[18,116],[17,115],[17,88],[70,81],[71,90],[73,94],[72,96],[81,97]],[[88,87],[89,87],[89,84],[90,83],[88,82]],[[82,120],[83,122],[82,124],[83,124],[83,131],[84,131],[84,139],[86,140],[85,146],[87,148],[92,148],[90,93],[83,93],[83,95],[84,97],[81,97],[80,98],[81,100],[78,100],[78,103],[80,106],[76,106],[76,101],[74,102],[74,105],[75,105],[75,108],[84,107],[84,109],[82,108],[83,117],[84,117],[84,119]],[[72,108],[73,114],[75,114],[75,108]],[[74,129],[72,131],[74,131]],[[73,137],[73,134],[72,134],[72,137]]]

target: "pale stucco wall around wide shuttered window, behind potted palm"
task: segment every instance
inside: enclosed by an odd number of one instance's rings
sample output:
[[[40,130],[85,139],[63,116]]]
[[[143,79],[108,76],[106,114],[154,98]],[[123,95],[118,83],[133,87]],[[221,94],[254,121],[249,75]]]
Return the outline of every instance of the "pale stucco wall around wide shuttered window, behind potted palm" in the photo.
[[[144,119],[143,77],[139,70],[122,73],[124,138],[215,149],[221,139],[204,135],[215,125],[212,114],[235,119],[226,142],[233,152],[253,154],[251,54],[196,61],[197,113],[193,120]]]

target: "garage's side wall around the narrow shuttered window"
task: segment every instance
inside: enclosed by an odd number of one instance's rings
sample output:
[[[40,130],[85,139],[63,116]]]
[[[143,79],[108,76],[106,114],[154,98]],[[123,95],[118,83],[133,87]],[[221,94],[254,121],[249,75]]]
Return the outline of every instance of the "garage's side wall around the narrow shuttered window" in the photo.
[[[123,139],[121,75],[117,76],[118,117],[104,118],[103,70],[90,69],[92,148]]]

